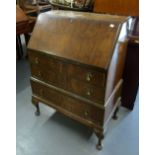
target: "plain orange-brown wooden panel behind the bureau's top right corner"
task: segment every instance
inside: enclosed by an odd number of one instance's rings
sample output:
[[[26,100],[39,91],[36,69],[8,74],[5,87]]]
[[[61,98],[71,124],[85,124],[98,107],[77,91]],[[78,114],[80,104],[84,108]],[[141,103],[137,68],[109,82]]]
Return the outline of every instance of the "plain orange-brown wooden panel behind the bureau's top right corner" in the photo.
[[[139,16],[139,0],[95,0],[94,12]]]

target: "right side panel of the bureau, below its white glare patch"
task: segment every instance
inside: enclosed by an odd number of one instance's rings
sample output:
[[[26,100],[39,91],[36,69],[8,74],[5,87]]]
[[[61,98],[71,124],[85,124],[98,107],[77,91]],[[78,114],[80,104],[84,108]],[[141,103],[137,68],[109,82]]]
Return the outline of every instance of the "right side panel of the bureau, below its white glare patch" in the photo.
[[[122,72],[126,55],[127,41],[119,42],[116,45],[107,75],[105,92],[105,114],[104,122],[107,122],[116,109],[116,102],[121,95]]]

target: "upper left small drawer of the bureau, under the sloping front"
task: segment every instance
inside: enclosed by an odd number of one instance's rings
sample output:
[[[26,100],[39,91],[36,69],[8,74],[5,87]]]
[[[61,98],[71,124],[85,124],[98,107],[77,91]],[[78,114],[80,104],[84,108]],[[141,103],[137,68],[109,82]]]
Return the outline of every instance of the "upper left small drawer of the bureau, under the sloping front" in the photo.
[[[62,69],[62,63],[60,61],[39,52],[29,51],[29,60],[31,64],[53,71],[61,72]]]

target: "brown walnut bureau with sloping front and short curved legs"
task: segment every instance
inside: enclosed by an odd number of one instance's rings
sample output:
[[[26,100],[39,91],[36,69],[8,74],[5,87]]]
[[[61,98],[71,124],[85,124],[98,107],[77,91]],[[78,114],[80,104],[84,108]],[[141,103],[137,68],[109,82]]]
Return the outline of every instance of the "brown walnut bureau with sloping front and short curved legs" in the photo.
[[[50,11],[40,14],[29,41],[32,103],[91,128],[97,148],[120,105],[127,17]]]

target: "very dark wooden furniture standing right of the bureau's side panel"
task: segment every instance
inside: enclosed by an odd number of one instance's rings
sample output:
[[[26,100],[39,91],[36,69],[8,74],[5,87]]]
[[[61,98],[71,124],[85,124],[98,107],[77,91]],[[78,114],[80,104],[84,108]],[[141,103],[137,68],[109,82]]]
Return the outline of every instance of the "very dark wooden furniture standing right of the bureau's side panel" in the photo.
[[[130,110],[134,108],[139,88],[139,20],[135,19],[128,35],[129,43],[123,71],[122,105]]]

